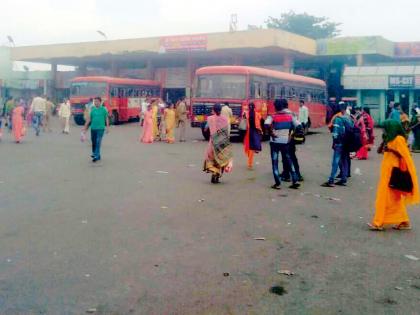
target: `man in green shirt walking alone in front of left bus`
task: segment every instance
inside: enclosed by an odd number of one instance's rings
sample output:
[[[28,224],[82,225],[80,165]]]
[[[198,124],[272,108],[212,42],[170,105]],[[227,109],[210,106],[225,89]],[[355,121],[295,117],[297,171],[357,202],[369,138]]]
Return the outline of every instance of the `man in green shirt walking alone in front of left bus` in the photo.
[[[95,163],[101,159],[101,143],[104,133],[109,132],[108,110],[102,105],[102,99],[98,96],[93,100],[94,106],[86,121],[83,132],[86,132],[90,126],[90,136],[92,140],[92,162]]]

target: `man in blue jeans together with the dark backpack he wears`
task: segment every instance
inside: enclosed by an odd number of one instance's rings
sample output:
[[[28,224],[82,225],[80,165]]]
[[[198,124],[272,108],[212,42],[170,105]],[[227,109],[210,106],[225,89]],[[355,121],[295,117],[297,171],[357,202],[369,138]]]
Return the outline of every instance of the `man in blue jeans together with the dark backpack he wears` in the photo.
[[[321,185],[322,187],[346,186],[350,167],[350,152],[353,152],[354,148],[357,147],[354,143],[354,138],[357,139],[357,132],[354,130],[352,120],[346,115],[347,106],[344,103],[340,104],[339,109],[340,112],[332,121],[333,157],[331,175],[328,181]],[[337,183],[334,183],[339,167],[341,169],[341,177]]]

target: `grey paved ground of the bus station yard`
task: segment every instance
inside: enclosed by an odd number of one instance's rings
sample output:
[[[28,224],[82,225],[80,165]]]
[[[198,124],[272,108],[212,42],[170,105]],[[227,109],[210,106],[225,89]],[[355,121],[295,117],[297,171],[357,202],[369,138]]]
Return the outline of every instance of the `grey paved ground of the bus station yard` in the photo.
[[[212,186],[197,130],[142,145],[135,124],[114,127],[97,165],[79,132],[0,143],[0,314],[419,313],[420,261],[405,255],[420,257],[420,209],[411,232],[365,225],[380,156],[321,188],[321,131],[299,147],[304,187],[277,192],[267,144],[255,171],[235,144],[233,174]]]

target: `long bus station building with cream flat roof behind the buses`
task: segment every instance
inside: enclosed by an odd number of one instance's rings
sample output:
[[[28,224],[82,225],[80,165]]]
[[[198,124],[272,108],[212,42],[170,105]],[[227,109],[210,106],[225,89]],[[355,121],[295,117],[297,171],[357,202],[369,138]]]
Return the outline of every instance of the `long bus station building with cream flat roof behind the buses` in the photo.
[[[11,71],[13,61],[50,64],[51,71]],[[61,72],[58,65],[75,71]],[[195,70],[210,65],[322,79],[331,100],[369,106],[378,122],[391,100],[409,112],[420,97],[420,43],[380,36],[313,40],[274,29],[0,48],[0,87],[3,96],[43,91],[59,99],[76,76],[109,75],[160,81],[164,98],[176,100],[191,95]]]

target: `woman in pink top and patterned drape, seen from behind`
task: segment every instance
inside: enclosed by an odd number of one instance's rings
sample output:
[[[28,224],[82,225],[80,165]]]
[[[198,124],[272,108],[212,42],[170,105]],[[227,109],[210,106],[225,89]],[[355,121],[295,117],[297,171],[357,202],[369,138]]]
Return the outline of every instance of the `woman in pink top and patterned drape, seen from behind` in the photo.
[[[204,160],[204,172],[211,173],[211,182],[219,183],[224,172],[232,167],[232,146],[229,139],[229,120],[220,115],[222,107],[215,104],[213,115],[207,118],[206,129],[210,131],[210,141]]]

